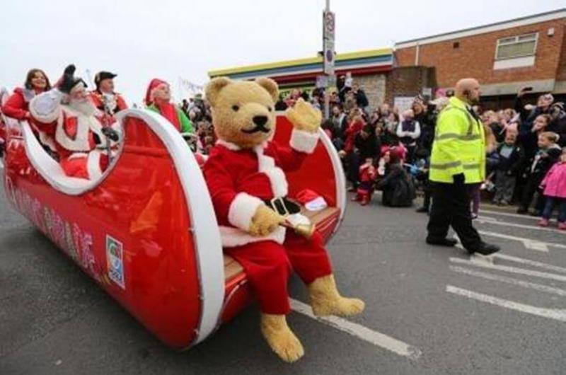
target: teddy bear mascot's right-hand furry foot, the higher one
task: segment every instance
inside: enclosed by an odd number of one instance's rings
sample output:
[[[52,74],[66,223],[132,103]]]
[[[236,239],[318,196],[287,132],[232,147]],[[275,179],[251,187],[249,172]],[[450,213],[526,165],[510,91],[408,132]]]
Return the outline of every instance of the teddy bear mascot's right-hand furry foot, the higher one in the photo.
[[[315,316],[352,316],[364,311],[365,303],[361,299],[340,296],[333,275],[316,279],[308,285],[308,292]]]

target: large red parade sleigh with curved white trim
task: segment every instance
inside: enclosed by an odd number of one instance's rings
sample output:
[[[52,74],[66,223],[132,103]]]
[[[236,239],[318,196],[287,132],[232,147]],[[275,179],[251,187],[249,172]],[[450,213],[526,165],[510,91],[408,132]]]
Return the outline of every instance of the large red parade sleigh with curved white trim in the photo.
[[[223,255],[207,185],[187,144],[160,115],[117,115],[124,142],[100,180],[69,178],[25,122],[9,129],[8,200],[159,339],[185,349],[250,301],[246,274]],[[275,142],[291,124],[277,117]],[[289,196],[309,188],[328,207],[304,212],[325,241],[345,209],[340,159],[324,132]]]

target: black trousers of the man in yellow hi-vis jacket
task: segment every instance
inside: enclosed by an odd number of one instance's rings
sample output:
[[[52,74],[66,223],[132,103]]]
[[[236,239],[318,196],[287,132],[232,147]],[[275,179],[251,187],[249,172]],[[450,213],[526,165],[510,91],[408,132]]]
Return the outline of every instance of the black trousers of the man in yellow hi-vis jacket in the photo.
[[[470,196],[466,185],[435,183],[427,226],[428,238],[446,238],[450,226],[456,231],[466,250],[475,250],[482,243],[478,231],[472,225]]]

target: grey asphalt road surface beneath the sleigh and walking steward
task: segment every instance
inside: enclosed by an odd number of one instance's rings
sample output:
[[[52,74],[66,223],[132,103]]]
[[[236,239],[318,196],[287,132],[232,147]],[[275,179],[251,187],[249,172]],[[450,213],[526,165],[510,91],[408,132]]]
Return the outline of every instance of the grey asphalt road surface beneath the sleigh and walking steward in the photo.
[[[170,350],[9,209],[1,191],[0,374],[566,372],[566,233],[484,212],[478,229],[514,258],[469,262],[457,248],[424,244],[425,215],[377,201],[350,204],[329,245],[340,289],[362,296],[366,311],[349,319],[350,333],[343,321],[291,313],[306,355],[284,364],[260,337],[256,306],[192,350]],[[291,294],[307,301],[297,279]],[[392,351],[390,338],[410,355]]]

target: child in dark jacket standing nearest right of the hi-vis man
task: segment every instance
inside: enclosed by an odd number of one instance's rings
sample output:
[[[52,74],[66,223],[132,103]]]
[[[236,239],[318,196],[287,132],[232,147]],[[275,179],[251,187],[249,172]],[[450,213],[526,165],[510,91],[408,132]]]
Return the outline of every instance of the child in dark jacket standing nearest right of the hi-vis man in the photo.
[[[523,160],[523,149],[516,145],[516,133],[508,132],[497,147],[499,163],[495,168],[495,196],[492,203],[506,206],[511,203],[516,175]]]

